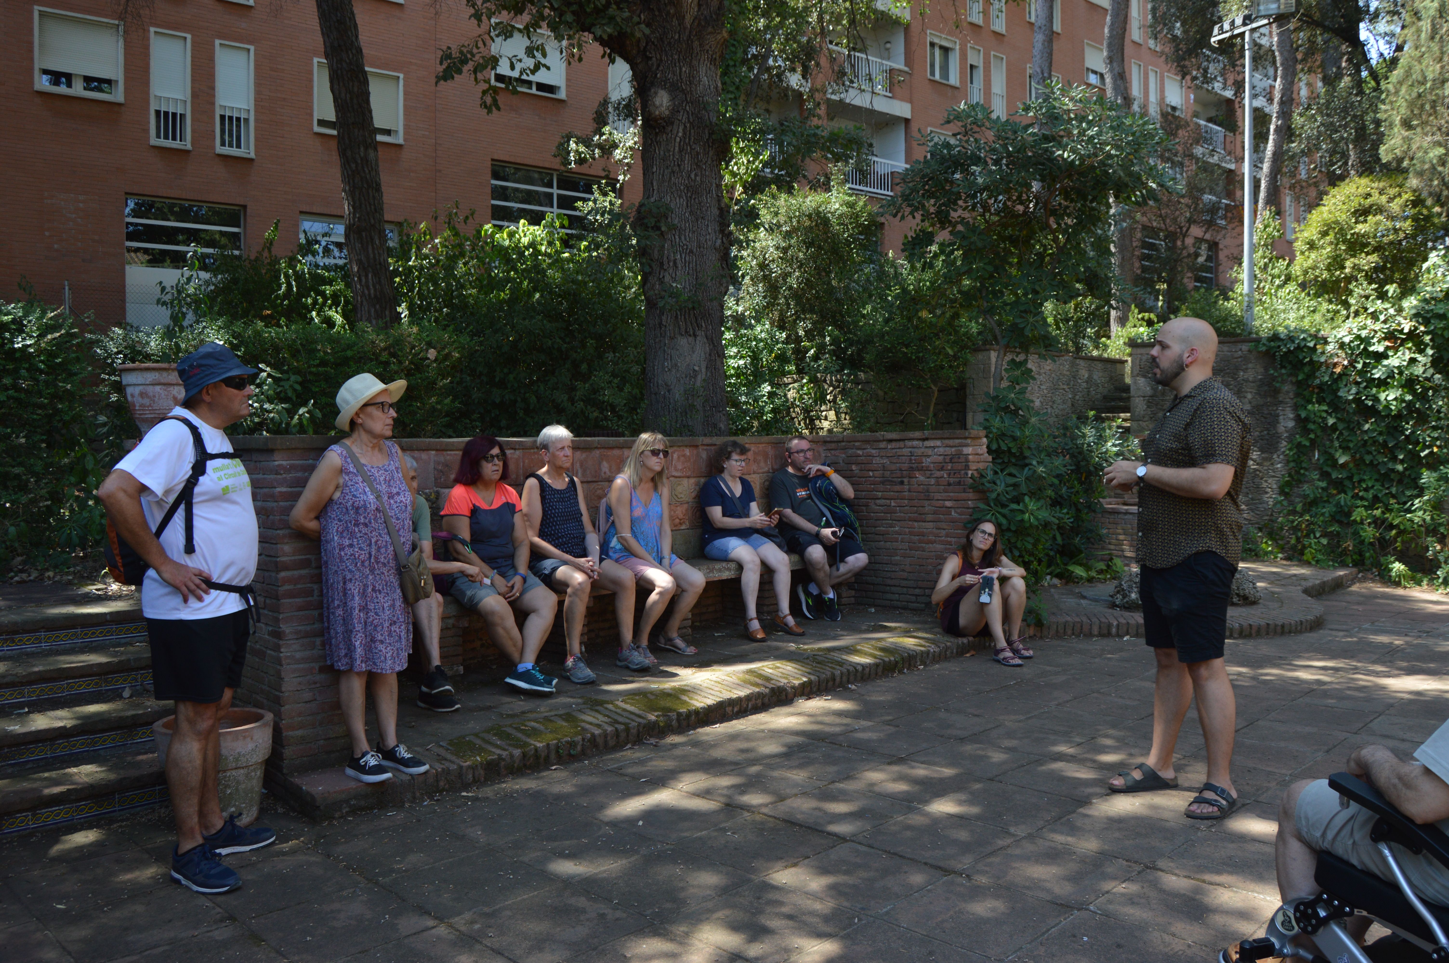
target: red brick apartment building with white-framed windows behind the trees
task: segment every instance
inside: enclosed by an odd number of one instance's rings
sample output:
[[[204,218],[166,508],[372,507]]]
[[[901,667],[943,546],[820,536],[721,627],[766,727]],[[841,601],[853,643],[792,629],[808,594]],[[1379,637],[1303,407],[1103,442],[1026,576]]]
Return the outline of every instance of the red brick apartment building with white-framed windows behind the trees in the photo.
[[[342,191],[326,64],[307,0],[154,0],[117,30],[116,0],[6,3],[10,52],[0,94],[10,135],[0,142],[7,185],[0,284],[23,277],[36,294],[103,323],[164,320],[156,284],[178,277],[193,245],[254,251],[274,222],[277,249],[301,232],[343,252]],[[554,62],[533,90],[503,94],[485,114],[471,81],[433,83],[438,49],[469,36],[461,4],[354,0],[372,78],[385,216],[426,220],[454,201],[496,223],[567,211],[591,174],[559,171],[565,130],[590,129],[594,107],[626,81],[590,54]],[[1207,123],[1219,91],[1184,88],[1151,49],[1148,0],[1132,0],[1127,77],[1143,110],[1198,117],[1200,156],[1233,182],[1235,138]],[[961,0],[878,29],[843,58],[829,122],[859,123],[875,145],[851,177],[884,197],[891,174],[923,152],[917,136],[962,100],[1001,114],[1027,97],[1030,4]],[[1106,0],[1058,0],[1056,72],[1103,83]],[[1255,93],[1258,93],[1255,90]],[[1266,97],[1264,85],[1261,91]],[[1264,106],[1265,101],[1262,101]],[[790,106],[781,106],[788,110]],[[626,200],[630,188],[626,185]],[[897,245],[898,224],[885,243]],[[1213,258],[1201,281],[1226,277]]]

